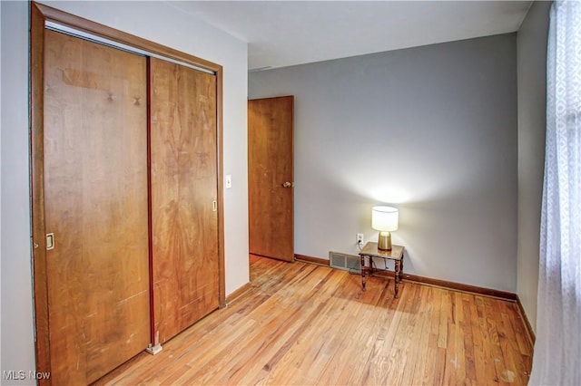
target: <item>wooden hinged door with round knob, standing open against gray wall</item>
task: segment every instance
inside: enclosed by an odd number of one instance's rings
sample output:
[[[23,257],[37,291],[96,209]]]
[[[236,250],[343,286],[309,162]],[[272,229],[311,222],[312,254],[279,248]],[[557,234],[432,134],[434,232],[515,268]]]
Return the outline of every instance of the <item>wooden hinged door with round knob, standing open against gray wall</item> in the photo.
[[[294,260],[294,97],[248,101],[251,254]]]

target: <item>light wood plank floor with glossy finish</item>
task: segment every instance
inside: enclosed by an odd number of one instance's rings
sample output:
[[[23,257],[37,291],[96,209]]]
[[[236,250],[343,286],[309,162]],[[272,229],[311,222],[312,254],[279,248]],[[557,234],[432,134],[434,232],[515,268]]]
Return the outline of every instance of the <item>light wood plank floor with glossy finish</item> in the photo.
[[[517,305],[251,257],[251,288],[99,384],[527,384]]]

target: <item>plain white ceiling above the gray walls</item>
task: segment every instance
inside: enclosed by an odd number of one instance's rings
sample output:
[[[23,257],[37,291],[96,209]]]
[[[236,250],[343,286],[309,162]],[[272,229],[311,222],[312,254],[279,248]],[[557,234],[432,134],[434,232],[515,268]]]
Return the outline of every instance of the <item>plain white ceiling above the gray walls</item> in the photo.
[[[170,1],[285,67],[517,31],[531,1]]]

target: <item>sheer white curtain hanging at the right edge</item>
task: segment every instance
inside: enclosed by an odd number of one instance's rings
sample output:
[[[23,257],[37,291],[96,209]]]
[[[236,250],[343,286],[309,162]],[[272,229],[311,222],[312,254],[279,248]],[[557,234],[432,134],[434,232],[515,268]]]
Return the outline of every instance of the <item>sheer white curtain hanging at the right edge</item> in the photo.
[[[551,7],[537,342],[529,384],[581,385],[581,2]]]

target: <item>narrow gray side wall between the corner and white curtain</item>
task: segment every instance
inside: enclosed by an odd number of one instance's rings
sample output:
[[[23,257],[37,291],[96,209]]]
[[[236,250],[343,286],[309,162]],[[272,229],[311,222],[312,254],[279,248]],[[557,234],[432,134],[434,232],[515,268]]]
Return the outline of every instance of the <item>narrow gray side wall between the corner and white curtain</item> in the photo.
[[[545,164],[550,5],[551,2],[534,2],[517,34],[517,294],[534,329],[537,325],[538,247]]]

